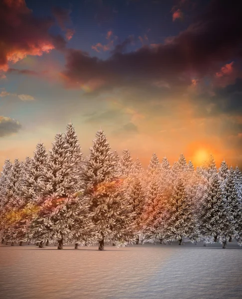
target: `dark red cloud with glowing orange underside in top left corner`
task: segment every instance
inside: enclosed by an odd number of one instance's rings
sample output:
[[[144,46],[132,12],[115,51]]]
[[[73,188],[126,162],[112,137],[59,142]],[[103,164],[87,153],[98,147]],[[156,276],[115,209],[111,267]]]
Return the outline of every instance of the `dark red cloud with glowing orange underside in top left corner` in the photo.
[[[69,13],[64,11],[61,16],[61,11],[64,10],[55,10],[60,26]],[[15,63],[27,55],[41,56],[54,48],[63,49],[66,41],[61,35],[49,33],[52,25],[54,18],[33,15],[24,0],[0,0],[0,28],[4,28],[0,30],[0,70],[7,71],[9,62]],[[71,36],[66,30],[66,38]]]

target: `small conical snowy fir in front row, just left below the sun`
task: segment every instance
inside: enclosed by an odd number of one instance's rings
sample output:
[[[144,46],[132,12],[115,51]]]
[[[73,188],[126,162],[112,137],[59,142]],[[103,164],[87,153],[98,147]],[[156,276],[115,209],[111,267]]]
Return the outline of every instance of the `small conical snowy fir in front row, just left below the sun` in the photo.
[[[180,179],[168,203],[168,221],[165,227],[165,238],[168,241],[198,241],[199,230],[193,207],[189,200],[183,181]]]

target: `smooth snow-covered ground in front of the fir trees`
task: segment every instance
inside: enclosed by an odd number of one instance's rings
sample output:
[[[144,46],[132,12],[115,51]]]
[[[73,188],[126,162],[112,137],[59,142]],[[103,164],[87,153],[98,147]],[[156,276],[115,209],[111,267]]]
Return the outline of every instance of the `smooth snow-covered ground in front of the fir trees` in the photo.
[[[0,246],[0,299],[242,299],[235,242],[106,246]]]

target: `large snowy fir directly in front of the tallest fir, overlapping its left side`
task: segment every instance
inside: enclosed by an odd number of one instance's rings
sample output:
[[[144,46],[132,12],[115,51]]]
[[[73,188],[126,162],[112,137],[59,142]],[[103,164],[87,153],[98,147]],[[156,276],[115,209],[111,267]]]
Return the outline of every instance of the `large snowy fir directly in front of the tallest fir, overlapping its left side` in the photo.
[[[73,128],[71,126],[68,128],[73,133]],[[67,132],[67,136],[68,134]],[[76,141],[75,134],[70,133],[69,135],[74,136]],[[72,152],[72,155],[75,156],[76,148],[79,152],[78,144],[74,144],[76,147],[72,144],[69,145],[62,134],[57,134],[55,142],[52,143],[47,166],[43,173],[43,181],[41,181],[42,199],[38,201],[41,209],[34,218],[34,225],[31,227],[32,237],[41,242],[40,246],[42,246],[44,239],[48,239],[49,241],[58,241],[58,248],[62,249],[63,242],[65,242],[64,238],[69,236],[70,221],[68,217],[71,211],[68,209],[69,206],[65,207],[65,204],[68,204],[77,183],[77,173],[70,154]],[[55,209],[49,210],[48,206],[52,205],[53,207],[52,203],[54,202],[56,202]],[[60,214],[61,220],[56,216]]]

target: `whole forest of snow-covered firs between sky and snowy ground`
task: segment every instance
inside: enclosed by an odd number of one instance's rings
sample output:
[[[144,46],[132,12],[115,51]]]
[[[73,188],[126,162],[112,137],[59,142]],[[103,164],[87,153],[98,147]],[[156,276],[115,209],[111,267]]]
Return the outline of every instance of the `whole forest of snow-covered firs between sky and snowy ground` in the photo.
[[[181,154],[147,168],[128,149],[112,150],[102,130],[84,157],[68,124],[47,151],[6,159],[0,175],[2,244],[126,246],[145,242],[242,245],[242,173],[213,155],[196,169]]]

